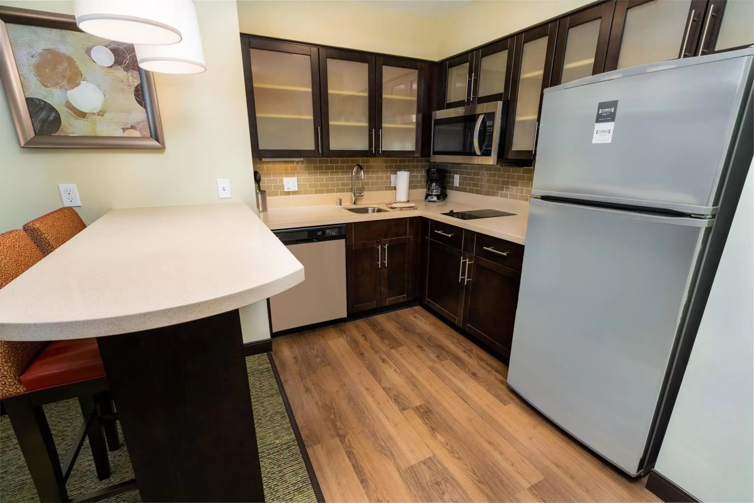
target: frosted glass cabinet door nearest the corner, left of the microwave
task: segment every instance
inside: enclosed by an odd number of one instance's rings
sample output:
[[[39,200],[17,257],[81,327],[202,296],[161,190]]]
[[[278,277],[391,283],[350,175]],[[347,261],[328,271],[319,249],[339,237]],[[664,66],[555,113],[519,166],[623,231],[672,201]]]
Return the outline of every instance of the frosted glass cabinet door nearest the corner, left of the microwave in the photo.
[[[383,57],[379,57],[381,61]],[[385,57],[385,59],[388,59]],[[379,94],[377,153],[416,151],[416,104],[419,86],[418,63],[416,68],[382,65],[378,63]]]

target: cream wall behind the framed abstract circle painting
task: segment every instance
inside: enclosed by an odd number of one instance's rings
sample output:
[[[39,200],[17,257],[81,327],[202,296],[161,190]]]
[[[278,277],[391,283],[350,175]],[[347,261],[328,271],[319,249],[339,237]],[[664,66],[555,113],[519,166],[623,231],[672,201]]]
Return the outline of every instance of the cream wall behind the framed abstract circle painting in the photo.
[[[0,5],[72,13],[71,2]],[[87,224],[116,207],[231,201],[256,210],[235,2],[196,2],[207,72],[155,74],[164,151],[21,149],[0,92],[0,232],[62,206],[58,183],[75,183]],[[224,199],[222,201],[228,201]],[[244,342],[269,337],[266,302],[243,308]]]

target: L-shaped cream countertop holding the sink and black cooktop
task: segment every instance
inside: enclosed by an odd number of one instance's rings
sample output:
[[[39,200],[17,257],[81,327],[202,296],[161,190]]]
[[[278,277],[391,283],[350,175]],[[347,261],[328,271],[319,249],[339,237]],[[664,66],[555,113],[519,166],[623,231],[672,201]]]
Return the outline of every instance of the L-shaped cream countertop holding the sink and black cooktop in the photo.
[[[308,227],[311,225],[330,225],[337,223],[366,222],[368,220],[382,220],[406,218],[409,216],[425,216],[428,219],[446,222],[470,231],[494,236],[495,238],[524,244],[526,241],[526,214],[510,216],[493,216],[486,219],[461,220],[452,216],[442,215],[450,210],[469,211],[482,210],[486,206],[450,201],[446,199],[440,203],[425,201],[411,201],[416,204],[415,210],[391,210],[385,203],[363,203],[358,206],[377,206],[388,210],[386,213],[351,213],[348,206],[340,207],[335,204],[326,206],[298,206],[270,208],[261,213],[260,218],[273,230],[280,228]],[[515,210],[512,210],[515,213]]]

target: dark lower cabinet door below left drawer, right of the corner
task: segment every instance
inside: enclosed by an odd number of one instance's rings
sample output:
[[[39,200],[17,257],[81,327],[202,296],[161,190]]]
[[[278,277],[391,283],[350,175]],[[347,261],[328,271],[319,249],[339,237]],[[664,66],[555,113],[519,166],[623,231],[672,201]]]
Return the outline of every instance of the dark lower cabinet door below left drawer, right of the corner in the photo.
[[[461,326],[464,310],[462,283],[464,253],[458,248],[427,241],[427,287],[424,300],[435,311]]]

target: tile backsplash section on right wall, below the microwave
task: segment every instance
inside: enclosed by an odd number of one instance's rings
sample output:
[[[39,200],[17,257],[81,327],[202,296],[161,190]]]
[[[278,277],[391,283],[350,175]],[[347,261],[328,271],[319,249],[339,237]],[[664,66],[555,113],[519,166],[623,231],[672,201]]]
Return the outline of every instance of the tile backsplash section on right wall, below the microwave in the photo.
[[[483,164],[431,163],[445,169],[448,190],[492,195],[498,198],[529,201],[532,195],[533,167],[487,166]],[[453,175],[460,175],[458,187],[453,186]]]

